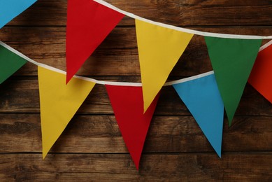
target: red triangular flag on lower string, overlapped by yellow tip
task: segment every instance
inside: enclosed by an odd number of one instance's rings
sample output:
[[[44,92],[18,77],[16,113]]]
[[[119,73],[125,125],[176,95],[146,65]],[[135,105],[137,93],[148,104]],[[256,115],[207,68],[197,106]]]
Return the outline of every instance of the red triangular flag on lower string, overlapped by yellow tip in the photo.
[[[143,144],[155,111],[159,94],[143,113],[142,87],[106,85],[110,103],[124,143],[138,169]]]

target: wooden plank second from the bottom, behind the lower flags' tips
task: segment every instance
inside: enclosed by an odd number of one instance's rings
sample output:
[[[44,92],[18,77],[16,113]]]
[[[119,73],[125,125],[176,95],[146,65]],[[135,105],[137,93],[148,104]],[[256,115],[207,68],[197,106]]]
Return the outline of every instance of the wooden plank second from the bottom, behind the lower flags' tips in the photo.
[[[0,114],[0,153],[41,152],[39,114]],[[272,117],[237,116],[224,123],[222,155],[229,151],[271,151]],[[75,116],[51,153],[127,153],[115,117]],[[155,116],[144,153],[211,152],[192,116]]]

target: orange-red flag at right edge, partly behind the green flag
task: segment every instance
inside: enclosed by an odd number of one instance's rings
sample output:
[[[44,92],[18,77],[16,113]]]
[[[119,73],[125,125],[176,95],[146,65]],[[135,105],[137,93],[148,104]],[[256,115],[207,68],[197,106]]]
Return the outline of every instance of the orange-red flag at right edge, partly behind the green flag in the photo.
[[[272,104],[272,45],[259,52],[248,83]]]

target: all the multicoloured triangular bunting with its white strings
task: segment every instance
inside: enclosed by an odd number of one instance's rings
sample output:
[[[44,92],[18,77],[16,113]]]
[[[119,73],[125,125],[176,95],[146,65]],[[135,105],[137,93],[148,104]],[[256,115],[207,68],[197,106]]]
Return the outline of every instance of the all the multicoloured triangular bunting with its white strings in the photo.
[[[34,2],[0,1],[0,28]],[[142,83],[74,76],[124,15],[136,21]],[[205,36],[214,73],[166,83],[194,34]],[[38,66],[43,158],[96,83],[106,85],[117,124],[137,169],[162,86],[173,85],[220,158],[224,108],[231,125],[246,81],[272,103],[272,42],[257,56],[262,38],[272,36],[214,34],[174,27],[138,17],[102,0],[69,0],[66,35],[67,74],[34,62],[0,41],[0,84],[26,62]]]

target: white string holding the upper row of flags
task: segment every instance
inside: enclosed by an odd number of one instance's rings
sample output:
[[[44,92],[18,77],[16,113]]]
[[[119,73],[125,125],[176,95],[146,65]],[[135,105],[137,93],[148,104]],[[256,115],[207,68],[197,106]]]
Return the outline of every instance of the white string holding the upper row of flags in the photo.
[[[129,13],[127,11],[121,10],[120,8],[117,8],[117,7],[111,5],[110,3],[107,3],[106,1],[103,1],[103,0],[94,0],[94,1],[96,1],[97,3],[102,4],[103,6],[106,6],[108,8],[113,9],[113,10],[116,10],[117,12],[122,13],[123,15],[127,15],[130,18],[141,20],[143,22],[148,22],[148,23],[151,23],[153,25],[158,25],[158,26],[161,26],[161,27],[166,27],[166,28],[169,28],[169,29],[174,29],[174,30],[177,30],[177,31],[186,32],[186,33],[189,33],[189,34],[196,34],[196,35],[199,35],[199,36],[212,36],[212,37],[218,37],[218,38],[272,39],[272,36],[250,36],[250,35],[237,35],[237,34],[216,34],[216,33],[210,33],[210,32],[206,32],[206,31],[197,31],[197,30],[192,30],[192,29],[185,29],[185,28],[181,28],[181,27],[175,27],[173,25],[167,25],[167,24],[164,24],[164,23],[161,23],[161,22],[155,22],[155,21],[152,21],[152,20],[141,18],[141,17],[139,17],[137,15],[134,15],[134,14]]]

